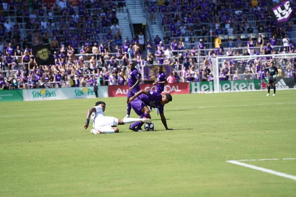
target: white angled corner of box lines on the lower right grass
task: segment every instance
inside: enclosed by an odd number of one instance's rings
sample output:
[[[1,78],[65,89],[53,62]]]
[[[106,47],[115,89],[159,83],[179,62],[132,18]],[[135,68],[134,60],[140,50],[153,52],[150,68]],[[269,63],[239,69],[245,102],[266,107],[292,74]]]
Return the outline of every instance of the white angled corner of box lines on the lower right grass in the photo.
[[[262,172],[266,172],[266,173],[269,173],[269,174],[274,174],[274,175],[277,175],[277,176],[289,178],[289,179],[292,179],[292,180],[296,181],[296,176],[295,175],[286,174],[286,173],[278,172],[278,171],[275,171],[275,170],[272,170],[272,169],[267,169],[267,168],[264,168],[264,167],[259,167],[259,166],[256,166],[256,165],[243,163],[243,162],[254,162],[254,161],[279,161],[279,160],[296,160],[296,158],[259,159],[259,160],[229,160],[229,161],[226,161],[226,162],[228,162],[230,164],[236,164],[236,165],[248,167],[248,168],[251,168],[251,169],[256,169],[256,170],[259,170],[259,171],[262,171]]]

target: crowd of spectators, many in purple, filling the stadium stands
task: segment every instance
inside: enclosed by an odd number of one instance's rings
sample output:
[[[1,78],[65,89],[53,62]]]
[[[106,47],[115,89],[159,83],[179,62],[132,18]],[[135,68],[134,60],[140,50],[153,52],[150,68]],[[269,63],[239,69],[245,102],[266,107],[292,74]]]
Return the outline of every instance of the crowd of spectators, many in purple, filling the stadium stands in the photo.
[[[277,26],[267,9],[270,3],[145,0],[150,22],[156,23],[155,13],[162,17],[165,37],[146,40],[140,33],[124,41],[116,18],[116,11],[123,11],[124,0],[80,0],[75,6],[65,0],[53,6],[36,0],[32,4],[2,3],[0,88],[124,85],[130,59],[136,60],[138,69],[172,66],[173,72],[167,76],[171,83],[211,81],[213,56],[295,53],[290,39],[295,20]],[[46,43],[51,45],[55,65],[37,65],[35,61],[32,46]],[[296,75],[294,58],[273,61],[282,66],[283,75]],[[259,78],[261,67],[268,65],[266,61],[230,60],[220,66],[221,80],[235,80]]]

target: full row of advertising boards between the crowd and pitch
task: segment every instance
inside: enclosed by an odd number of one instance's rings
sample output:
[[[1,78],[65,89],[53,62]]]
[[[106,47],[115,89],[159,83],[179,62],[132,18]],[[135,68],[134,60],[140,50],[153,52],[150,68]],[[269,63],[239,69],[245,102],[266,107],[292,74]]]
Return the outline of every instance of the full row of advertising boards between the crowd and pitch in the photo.
[[[220,81],[220,92],[242,92],[267,89],[266,79],[249,79],[236,81]],[[143,90],[154,91],[156,86],[152,84],[141,84]],[[278,77],[276,81],[277,90],[296,89],[294,78]],[[99,86],[98,97],[126,97],[129,86]],[[214,93],[214,82],[190,82],[165,84],[162,94],[198,94]],[[76,88],[48,88],[48,89],[26,89],[26,90],[0,90],[0,102],[5,101],[35,101],[35,100],[60,100],[60,99],[95,99],[94,87]]]

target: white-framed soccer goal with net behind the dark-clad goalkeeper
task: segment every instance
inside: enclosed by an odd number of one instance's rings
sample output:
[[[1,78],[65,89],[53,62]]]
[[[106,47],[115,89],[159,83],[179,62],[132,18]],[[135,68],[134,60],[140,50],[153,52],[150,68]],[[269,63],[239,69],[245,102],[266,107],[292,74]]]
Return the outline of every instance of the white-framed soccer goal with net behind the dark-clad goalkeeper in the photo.
[[[296,89],[296,54],[211,57],[214,93],[266,90],[267,68],[278,68],[276,89]]]

